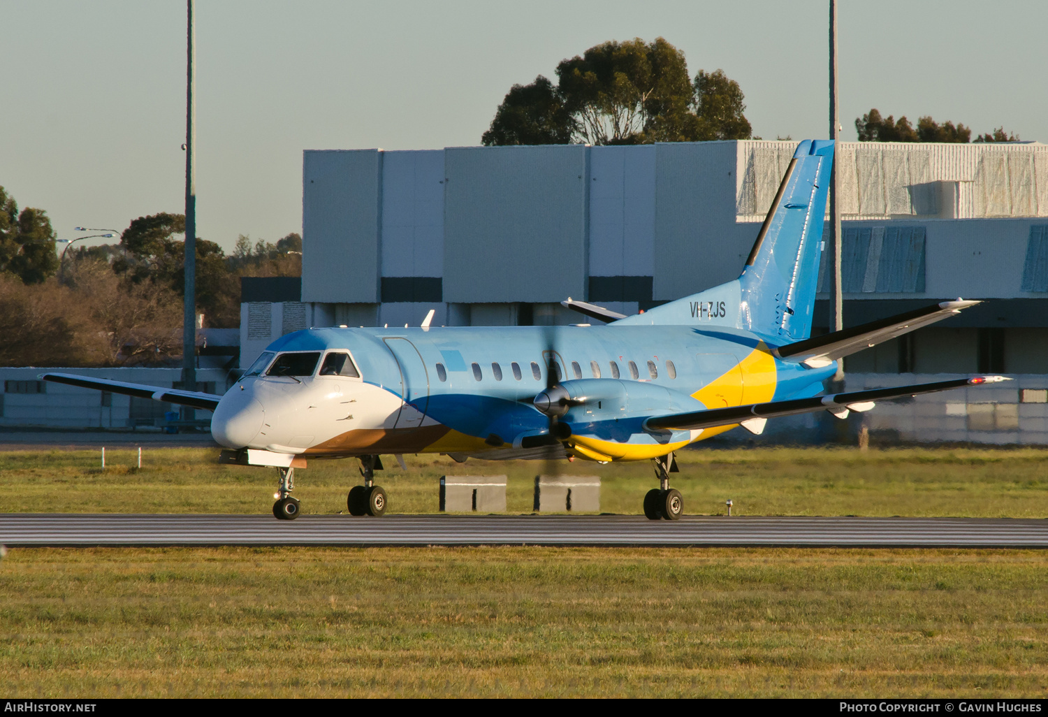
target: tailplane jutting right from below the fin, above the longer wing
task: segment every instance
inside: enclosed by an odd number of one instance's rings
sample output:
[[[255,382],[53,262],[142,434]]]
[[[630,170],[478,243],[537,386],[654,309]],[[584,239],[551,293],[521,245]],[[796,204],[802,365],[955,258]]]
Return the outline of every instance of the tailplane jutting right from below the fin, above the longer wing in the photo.
[[[834,331],[822,336],[805,339],[795,344],[780,346],[777,353],[787,361],[795,361],[812,368],[821,368],[829,366],[837,358],[870,348],[875,344],[883,343],[903,333],[910,333],[921,326],[948,319],[955,313],[960,313],[961,309],[982,302],[964,301],[963,299],[944,301],[888,319],[872,321],[869,324],[853,326],[843,331]]]

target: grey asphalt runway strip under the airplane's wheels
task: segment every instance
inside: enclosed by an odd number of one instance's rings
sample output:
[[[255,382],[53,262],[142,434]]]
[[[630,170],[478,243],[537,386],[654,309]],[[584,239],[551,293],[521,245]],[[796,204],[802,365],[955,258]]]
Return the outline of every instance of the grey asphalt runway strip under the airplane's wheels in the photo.
[[[0,543],[97,545],[637,545],[1048,547],[1048,520],[640,516],[2,514]]]

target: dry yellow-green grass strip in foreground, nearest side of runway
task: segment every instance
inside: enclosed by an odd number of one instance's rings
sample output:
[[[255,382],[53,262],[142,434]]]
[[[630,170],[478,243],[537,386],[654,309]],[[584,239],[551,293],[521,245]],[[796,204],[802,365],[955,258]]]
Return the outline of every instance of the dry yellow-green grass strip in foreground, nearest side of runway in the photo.
[[[18,549],[30,696],[1040,696],[1036,551]]]

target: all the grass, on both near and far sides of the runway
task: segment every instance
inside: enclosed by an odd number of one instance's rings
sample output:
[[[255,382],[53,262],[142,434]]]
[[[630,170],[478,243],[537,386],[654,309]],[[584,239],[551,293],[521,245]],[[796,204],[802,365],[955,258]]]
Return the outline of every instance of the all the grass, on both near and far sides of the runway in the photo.
[[[267,514],[271,469],[214,451],[0,453],[6,510]],[[393,460],[393,513],[444,474],[542,463]],[[685,452],[689,513],[1048,517],[1048,451]],[[639,513],[643,463],[601,475]],[[344,509],[351,461],[299,471]],[[346,520],[370,520],[352,519]],[[1033,550],[34,548],[0,562],[0,671],[32,696],[1036,696],[1048,556]]]

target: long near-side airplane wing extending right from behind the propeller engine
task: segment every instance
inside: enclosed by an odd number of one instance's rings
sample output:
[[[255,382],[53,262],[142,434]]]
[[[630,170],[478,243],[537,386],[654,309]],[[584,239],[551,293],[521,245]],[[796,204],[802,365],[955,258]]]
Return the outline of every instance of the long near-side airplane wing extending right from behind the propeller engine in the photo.
[[[948,389],[962,388],[964,386],[996,384],[1000,381],[1011,379],[1005,378],[1004,376],[976,376],[975,378],[940,381],[934,384],[893,386],[891,388],[853,391],[851,393],[833,393],[827,396],[814,396],[812,398],[788,398],[786,400],[772,400],[767,404],[751,404],[749,406],[709,409],[708,411],[694,411],[692,413],[652,416],[645,421],[645,429],[655,431],[678,429],[686,431],[691,429],[704,429],[714,428],[716,426],[742,423],[743,421],[749,421],[755,418],[767,419],[778,416],[792,416],[798,413],[814,413],[815,411],[848,409],[849,407],[854,407],[855,410],[865,411],[873,408],[872,401],[874,400],[903,398],[905,396],[916,396],[919,393],[934,393],[935,391],[946,391]]]

